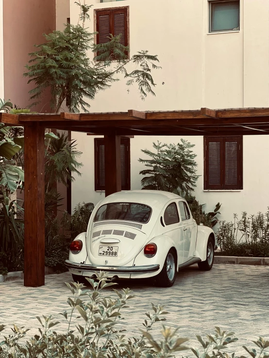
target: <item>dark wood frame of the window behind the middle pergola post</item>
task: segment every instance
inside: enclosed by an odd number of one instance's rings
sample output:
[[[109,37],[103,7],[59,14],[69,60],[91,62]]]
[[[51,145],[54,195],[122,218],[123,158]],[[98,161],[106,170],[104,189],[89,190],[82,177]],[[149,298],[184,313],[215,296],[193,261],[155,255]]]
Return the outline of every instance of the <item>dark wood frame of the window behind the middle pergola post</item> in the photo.
[[[105,191],[105,188],[100,186],[100,183],[98,183],[98,179],[100,177],[100,162],[99,162],[99,156],[98,156],[98,147],[104,142],[104,138],[95,138],[94,139],[94,190],[95,191]],[[126,176],[126,186],[122,188],[121,190],[131,190],[131,155],[130,155],[130,138],[127,137],[121,137],[120,138],[120,145],[122,142],[125,142],[125,158],[127,161],[127,164],[125,166],[125,176]],[[104,143],[103,143],[104,144]]]

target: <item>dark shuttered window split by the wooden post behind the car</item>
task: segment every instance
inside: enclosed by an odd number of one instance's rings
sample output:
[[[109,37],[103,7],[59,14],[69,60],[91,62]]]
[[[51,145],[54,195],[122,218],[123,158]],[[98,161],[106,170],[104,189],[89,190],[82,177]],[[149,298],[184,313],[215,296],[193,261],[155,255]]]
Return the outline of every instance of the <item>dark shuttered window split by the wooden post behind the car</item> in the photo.
[[[104,140],[95,138],[95,190],[105,190]],[[130,139],[120,140],[121,190],[130,190]]]

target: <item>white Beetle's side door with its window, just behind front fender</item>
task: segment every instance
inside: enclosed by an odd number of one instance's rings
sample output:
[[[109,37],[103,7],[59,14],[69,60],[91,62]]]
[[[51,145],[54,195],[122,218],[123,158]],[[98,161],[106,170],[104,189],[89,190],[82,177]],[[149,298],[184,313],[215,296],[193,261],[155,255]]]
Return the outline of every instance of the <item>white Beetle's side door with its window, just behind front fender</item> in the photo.
[[[184,233],[184,245],[183,245],[183,263],[189,261],[193,257],[193,252],[191,252],[191,245],[192,240],[196,239],[193,233],[194,229],[194,222],[193,218],[190,214],[190,210],[188,205],[184,201],[178,202],[180,217],[181,217],[181,224]],[[193,250],[192,250],[193,251]]]

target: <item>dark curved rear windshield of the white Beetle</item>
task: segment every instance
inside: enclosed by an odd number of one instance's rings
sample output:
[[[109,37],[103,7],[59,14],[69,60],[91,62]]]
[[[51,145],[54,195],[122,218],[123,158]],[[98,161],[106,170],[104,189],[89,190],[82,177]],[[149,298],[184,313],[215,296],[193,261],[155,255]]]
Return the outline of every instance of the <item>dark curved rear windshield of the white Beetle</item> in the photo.
[[[113,202],[102,205],[93,221],[126,220],[146,224],[151,217],[151,207],[135,202]]]

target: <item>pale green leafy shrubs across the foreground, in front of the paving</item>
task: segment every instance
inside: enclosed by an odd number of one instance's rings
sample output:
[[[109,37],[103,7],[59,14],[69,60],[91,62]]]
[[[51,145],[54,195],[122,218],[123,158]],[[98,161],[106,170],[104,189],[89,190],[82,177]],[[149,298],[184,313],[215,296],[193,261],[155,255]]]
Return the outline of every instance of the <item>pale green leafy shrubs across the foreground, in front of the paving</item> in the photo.
[[[233,332],[221,331],[216,327],[214,335],[196,336],[200,348],[189,347],[187,338],[177,336],[177,329],[162,326],[162,338],[156,340],[151,334],[153,325],[164,322],[168,312],[160,305],[152,305],[151,312],[146,313],[147,319],[142,323],[141,334],[138,337],[128,338],[125,330],[117,324],[123,319],[121,310],[127,307],[133,298],[129,289],[121,292],[114,290],[114,296],[109,296],[106,287],[115,285],[109,282],[105,273],[95,273],[97,282],[88,279],[93,290],[85,290],[82,284],[67,283],[72,297],[67,299],[70,306],[68,312],[62,315],[66,319],[66,333],[57,333],[55,326],[59,322],[53,321],[51,316],[36,317],[41,325],[39,334],[25,338],[29,329],[14,325],[12,334],[0,336],[1,358],[168,358],[189,352],[197,358],[229,358],[228,344],[236,342]],[[116,296],[116,297],[115,297]],[[117,328],[118,327],[118,328]],[[126,328],[128,326],[125,325]],[[4,330],[0,325],[0,332]],[[127,331],[128,333],[128,331]],[[251,358],[268,358],[269,341],[262,337],[253,341],[255,349],[243,348]],[[245,358],[241,356],[241,358]]]

